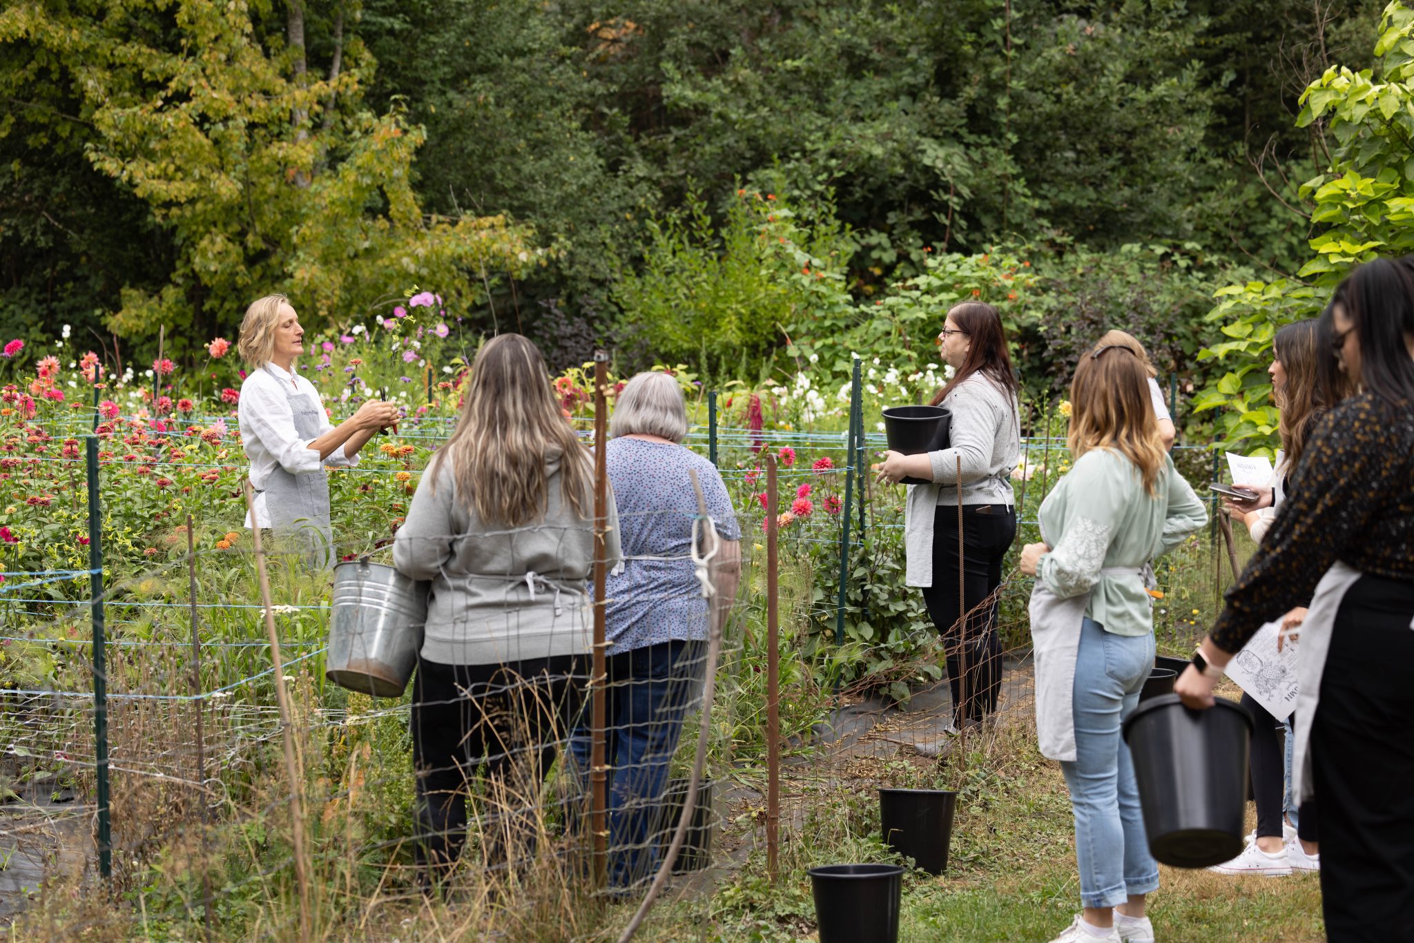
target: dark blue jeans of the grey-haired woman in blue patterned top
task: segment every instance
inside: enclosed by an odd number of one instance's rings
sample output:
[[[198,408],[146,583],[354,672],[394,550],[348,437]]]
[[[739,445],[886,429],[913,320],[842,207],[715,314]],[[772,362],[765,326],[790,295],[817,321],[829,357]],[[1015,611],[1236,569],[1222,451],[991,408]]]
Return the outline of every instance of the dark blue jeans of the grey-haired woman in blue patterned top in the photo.
[[[609,885],[628,888],[658,869],[658,812],[687,708],[697,701],[707,646],[660,642],[605,659]],[[570,739],[588,795],[590,704]],[[676,823],[674,823],[676,824]]]

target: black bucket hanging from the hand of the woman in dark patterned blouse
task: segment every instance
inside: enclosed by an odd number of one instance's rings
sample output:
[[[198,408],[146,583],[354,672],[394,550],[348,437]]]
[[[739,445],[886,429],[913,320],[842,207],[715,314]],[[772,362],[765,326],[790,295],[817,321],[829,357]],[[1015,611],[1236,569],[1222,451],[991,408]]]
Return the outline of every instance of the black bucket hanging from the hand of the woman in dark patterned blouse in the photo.
[[[1175,868],[1206,868],[1241,851],[1251,714],[1219,697],[1205,711],[1178,694],[1141,703],[1124,721],[1150,854]]]

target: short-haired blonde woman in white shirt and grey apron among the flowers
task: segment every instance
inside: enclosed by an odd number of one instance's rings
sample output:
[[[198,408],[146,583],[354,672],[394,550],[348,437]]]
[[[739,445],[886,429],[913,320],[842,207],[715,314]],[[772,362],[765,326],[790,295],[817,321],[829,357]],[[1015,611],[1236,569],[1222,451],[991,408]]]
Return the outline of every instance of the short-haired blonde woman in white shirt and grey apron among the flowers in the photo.
[[[397,421],[397,407],[369,400],[349,418],[331,424],[314,385],[294,369],[294,359],[304,353],[304,328],[283,294],[246,308],[238,349],[250,366],[238,407],[256,492],[246,526],[294,537],[305,564],[327,567],[334,529],[324,468],[356,465],[368,440]]]

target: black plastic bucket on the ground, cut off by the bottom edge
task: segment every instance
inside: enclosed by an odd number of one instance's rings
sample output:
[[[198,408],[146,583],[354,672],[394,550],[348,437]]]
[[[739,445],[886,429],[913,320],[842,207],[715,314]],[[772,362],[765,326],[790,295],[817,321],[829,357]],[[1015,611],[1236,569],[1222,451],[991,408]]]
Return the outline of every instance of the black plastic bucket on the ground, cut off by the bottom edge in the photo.
[[[904,868],[827,864],[810,868],[820,943],[896,943]]]

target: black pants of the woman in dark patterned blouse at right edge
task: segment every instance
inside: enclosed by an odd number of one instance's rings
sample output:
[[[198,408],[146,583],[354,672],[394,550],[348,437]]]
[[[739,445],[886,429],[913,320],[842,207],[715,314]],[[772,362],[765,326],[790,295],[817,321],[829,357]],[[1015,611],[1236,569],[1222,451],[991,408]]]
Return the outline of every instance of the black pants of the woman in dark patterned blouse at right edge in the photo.
[[[1340,943],[1414,940],[1410,664],[1414,585],[1362,577],[1336,612],[1311,721],[1322,909]]]

